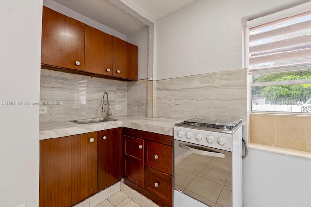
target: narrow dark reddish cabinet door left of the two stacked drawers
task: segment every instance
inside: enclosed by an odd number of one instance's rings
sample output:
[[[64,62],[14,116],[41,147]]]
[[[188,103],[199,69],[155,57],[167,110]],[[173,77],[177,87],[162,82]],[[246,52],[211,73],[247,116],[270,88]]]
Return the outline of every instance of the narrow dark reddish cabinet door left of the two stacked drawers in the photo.
[[[124,135],[124,178],[144,187],[144,140]]]

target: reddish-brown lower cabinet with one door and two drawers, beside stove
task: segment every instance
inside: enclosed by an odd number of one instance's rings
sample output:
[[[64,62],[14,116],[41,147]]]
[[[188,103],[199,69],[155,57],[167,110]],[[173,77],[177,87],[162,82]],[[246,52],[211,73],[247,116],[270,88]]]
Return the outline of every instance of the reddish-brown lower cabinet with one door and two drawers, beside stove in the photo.
[[[163,207],[173,206],[173,136],[123,128],[124,183]]]

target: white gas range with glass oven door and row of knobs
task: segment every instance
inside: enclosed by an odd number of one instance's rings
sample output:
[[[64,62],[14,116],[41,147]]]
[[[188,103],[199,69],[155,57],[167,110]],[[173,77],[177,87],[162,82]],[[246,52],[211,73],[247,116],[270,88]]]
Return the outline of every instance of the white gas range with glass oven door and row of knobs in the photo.
[[[242,120],[174,126],[174,207],[242,207]]]

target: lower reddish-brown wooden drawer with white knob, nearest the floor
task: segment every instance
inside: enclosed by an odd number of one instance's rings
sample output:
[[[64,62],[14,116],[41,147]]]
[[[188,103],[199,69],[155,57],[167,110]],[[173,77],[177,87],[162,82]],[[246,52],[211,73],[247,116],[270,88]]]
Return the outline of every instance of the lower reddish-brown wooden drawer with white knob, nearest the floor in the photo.
[[[145,166],[145,189],[163,201],[173,204],[173,177]]]

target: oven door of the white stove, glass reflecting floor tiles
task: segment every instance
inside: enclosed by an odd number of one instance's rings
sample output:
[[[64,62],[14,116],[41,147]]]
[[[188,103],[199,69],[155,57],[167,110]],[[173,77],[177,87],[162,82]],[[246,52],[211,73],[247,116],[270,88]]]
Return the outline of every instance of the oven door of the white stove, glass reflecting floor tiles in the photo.
[[[232,152],[174,140],[174,189],[174,207],[232,207]]]

